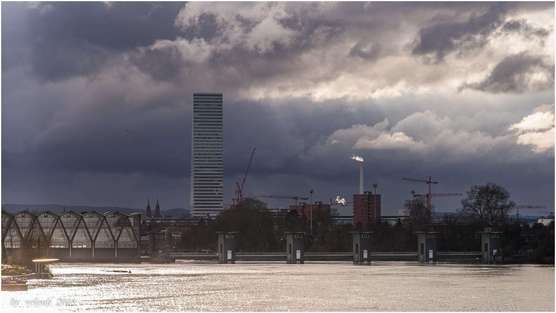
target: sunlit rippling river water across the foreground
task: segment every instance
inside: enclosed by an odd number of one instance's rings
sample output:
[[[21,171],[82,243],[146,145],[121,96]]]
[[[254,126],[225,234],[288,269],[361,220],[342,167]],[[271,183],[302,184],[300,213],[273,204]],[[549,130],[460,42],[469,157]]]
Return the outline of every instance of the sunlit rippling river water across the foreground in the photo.
[[[553,265],[182,261],[51,271],[27,292],[3,291],[2,311],[554,311]]]

